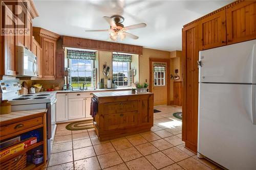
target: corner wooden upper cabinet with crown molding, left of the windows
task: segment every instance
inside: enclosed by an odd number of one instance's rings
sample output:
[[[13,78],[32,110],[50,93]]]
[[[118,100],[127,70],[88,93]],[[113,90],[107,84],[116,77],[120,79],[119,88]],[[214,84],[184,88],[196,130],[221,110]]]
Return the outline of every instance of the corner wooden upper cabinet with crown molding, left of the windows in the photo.
[[[42,79],[56,78],[56,46],[58,34],[51,31],[33,27],[33,36],[41,45],[41,77]],[[63,68],[64,69],[64,68]]]

